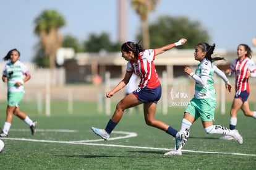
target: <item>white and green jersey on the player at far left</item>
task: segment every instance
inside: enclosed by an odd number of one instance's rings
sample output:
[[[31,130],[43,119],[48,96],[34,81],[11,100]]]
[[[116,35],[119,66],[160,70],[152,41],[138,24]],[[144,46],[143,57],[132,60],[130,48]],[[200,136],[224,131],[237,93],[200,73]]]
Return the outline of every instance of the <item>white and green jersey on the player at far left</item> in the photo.
[[[29,75],[27,67],[20,61],[14,64],[8,62],[2,71],[2,75],[7,77],[7,90],[8,92],[25,92],[23,85],[19,87],[15,85],[16,82],[23,82],[26,75]]]

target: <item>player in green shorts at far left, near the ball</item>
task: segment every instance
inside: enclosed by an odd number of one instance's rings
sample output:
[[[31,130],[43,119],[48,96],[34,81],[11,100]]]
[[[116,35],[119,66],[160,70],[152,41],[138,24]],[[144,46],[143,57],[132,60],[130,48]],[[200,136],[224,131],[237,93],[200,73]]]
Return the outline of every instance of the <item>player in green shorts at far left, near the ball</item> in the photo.
[[[17,49],[11,49],[3,58],[7,62],[2,72],[2,81],[7,82],[7,109],[6,109],[6,122],[4,129],[0,133],[0,137],[7,137],[9,129],[12,125],[12,114],[22,119],[30,126],[32,135],[35,133],[36,123],[32,121],[25,113],[20,111],[19,104],[24,96],[23,83],[30,79],[30,73],[27,67],[19,61],[20,52]]]

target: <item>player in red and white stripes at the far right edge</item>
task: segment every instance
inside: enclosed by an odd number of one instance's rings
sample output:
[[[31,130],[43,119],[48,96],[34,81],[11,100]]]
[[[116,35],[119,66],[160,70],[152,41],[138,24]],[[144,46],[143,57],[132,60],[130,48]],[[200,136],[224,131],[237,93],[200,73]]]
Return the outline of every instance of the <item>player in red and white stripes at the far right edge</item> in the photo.
[[[245,116],[254,117],[256,119],[256,111],[250,111],[249,102],[247,101],[249,89],[249,77],[256,77],[256,66],[252,58],[252,50],[248,45],[241,44],[237,47],[237,58],[233,61],[226,74],[231,76],[236,75],[236,94],[230,110],[229,129],[236,129],[237,111],[242,109]],[[221,137],[224,140],[232,140],[231,136]]]

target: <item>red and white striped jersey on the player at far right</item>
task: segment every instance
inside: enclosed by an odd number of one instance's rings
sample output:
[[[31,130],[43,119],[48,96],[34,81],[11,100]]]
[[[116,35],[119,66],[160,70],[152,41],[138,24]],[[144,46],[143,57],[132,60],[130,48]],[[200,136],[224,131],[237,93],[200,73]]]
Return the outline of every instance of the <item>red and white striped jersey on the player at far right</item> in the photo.
[[[233,61],[233,64],[230,66],[231,75],[233,72],[236,75],[236,91],[247,91],[249,90],[249,77],[247,75],[247,71],[255,72],[256,66],[254,61],[249,59],[249,57],[245,57],[243,60],[237,58]]]

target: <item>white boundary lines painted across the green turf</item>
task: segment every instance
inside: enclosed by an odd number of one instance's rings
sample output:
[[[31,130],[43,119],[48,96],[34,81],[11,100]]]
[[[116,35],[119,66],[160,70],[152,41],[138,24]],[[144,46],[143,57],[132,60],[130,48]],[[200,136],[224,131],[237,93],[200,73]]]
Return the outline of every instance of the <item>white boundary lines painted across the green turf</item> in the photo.
[[[14,131],[15,129],[12,129]],[[36,129],[41,132],[65,132],[64,129]],[[22,129],[18,129],[17,131],[22,131]],[[66,130],[66,132],[79,132],[79,130]],[[109,138],[109,140],[117,140],[121,138],[130,138],[137,137],[137,134],[134,132],[122,132],[122,131],[113,131],[113,134],[125,134],[122,137],[113,137]],[[139,147],[139,146],[129,146],[129,145],[113,145],[113,144],[103,144],[103,143],[88,143],[88,142],[103,142],[104,140],[80,140],[80,141],[57,141],[57,140],[37,140],[32,138],[2,138],[4,140],[20,140],[27,142],[45,142],[45,143],[66,143],[66,144],[75,144],[75,145],[92,145],[92,146],[101,146],[101,147],[120,147],[120,148],[137,148],[137,149],[145,149],[145,150],[164,150],[169,151],[170,148],[153,148],[153,147]],[[255,154],[245,154],[245,153],[225,153],[225,152],[214,152],[214,151],[193,151],[193,150],[182,150],[190,153],[209,153],[209,154],[222,154],[222,155],[239,155],[239,156],[256,156]]]

